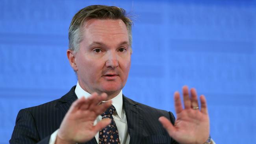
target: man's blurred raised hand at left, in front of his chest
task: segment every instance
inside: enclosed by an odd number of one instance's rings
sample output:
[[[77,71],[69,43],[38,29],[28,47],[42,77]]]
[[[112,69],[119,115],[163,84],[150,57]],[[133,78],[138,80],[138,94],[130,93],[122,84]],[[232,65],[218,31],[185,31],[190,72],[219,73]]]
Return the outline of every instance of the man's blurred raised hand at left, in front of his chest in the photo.
[[[77,142],[87,142],[91,140],[98,131],[111,123],[109,118],[104,118],[95,126],[93,123],[96,117],[111,106],[111,101],[100,104],[107,99],[107,94],[101,95],[96,92],[89,98],[82,97],[72,103],[69,111],[65,115],[55,144],[76,144]]]

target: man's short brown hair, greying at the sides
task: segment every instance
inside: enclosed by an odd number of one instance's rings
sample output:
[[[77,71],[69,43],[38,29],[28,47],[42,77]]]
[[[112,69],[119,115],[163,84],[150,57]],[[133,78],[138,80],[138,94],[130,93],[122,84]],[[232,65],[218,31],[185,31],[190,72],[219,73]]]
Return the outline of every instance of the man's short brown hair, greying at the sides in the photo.
[[[78,52],[79,44],[82,41],[82,27],[86,21],[96,19],[121,19],[126,25],[129,43],[132,46],[132,20],[126,15],[126,11],[116,6],[93,5],[87,6],[78,11],[69,26],[69,50]]]

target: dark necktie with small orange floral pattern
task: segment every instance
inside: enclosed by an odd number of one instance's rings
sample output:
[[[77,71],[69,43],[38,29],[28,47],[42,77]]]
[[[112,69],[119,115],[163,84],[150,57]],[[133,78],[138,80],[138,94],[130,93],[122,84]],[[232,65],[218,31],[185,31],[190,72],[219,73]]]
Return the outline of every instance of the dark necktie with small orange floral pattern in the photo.
[[[99,133],[99,144],[120,144],[117,126],[113,119],[112,114],[115,112],[115,107],[111,105],[103,114],[103,118],[110,118],[111,123],[104,129],[100,130]]]

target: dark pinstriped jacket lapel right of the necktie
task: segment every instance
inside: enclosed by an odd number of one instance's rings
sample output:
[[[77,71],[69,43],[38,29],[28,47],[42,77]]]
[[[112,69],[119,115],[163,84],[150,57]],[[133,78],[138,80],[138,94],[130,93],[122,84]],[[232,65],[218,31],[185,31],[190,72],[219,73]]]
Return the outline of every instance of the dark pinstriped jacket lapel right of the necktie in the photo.
[[[126,98],[123,95],[124,111],[127,118],[128,133],[130,135],[130,144],[141,143],[143,133],[143,117],[141,116],[141,109],[137,107],[137,103]]]

